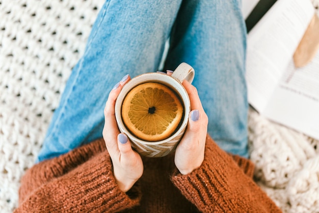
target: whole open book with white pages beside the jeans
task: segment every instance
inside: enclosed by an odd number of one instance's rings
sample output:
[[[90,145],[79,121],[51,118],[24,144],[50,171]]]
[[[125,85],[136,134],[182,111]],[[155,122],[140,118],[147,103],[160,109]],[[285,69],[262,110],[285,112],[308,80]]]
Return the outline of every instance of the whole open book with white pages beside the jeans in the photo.
[[[309,0],[278,0],[248,34],[246,80],[260,114],[319,139],[319,51],[301,68],[293,60],[314,14]]]

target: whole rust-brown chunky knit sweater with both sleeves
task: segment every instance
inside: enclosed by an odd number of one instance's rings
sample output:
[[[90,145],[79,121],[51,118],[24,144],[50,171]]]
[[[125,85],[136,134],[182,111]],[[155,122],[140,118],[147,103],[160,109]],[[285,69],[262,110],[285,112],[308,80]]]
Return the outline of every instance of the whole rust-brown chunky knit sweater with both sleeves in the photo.
[[[103,139],[93,141],[28,170],[14,212],[281,212],[253,182],[253,164],[209,136],[191,174],[178,172],[173,154],[143,163],[143,176],[123,193]]]

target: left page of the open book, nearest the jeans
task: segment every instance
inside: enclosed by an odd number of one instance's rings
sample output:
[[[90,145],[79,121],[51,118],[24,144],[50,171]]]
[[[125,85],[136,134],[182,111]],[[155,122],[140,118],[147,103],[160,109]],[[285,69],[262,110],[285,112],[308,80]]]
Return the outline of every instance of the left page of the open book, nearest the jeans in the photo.
[[[248,101],[265,110],[314,14],[309,0],[278,0],[248,34]]]

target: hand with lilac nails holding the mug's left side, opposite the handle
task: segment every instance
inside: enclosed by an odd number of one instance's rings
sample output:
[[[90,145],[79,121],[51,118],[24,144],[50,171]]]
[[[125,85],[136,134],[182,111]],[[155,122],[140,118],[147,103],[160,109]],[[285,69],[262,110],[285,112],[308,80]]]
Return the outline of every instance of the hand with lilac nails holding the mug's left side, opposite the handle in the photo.
[[[143,174],[141,156],[132,150],[127,136],[120,133],[115,119],[115,101],[129,79],[126,75],[114,86],[104,108],[103,138],[112,159],[114,177],[123,192],[127,192]]]

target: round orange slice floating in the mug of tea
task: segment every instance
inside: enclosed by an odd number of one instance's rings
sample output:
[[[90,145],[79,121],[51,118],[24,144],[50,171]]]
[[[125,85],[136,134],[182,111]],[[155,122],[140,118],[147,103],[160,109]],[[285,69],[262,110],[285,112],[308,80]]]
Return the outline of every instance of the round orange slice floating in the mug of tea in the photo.
[[[160,83],[143,83],[123,100],[122,120],[136,137],[146,141],[168,138],[178,127],[183,107],[177,95]]]

